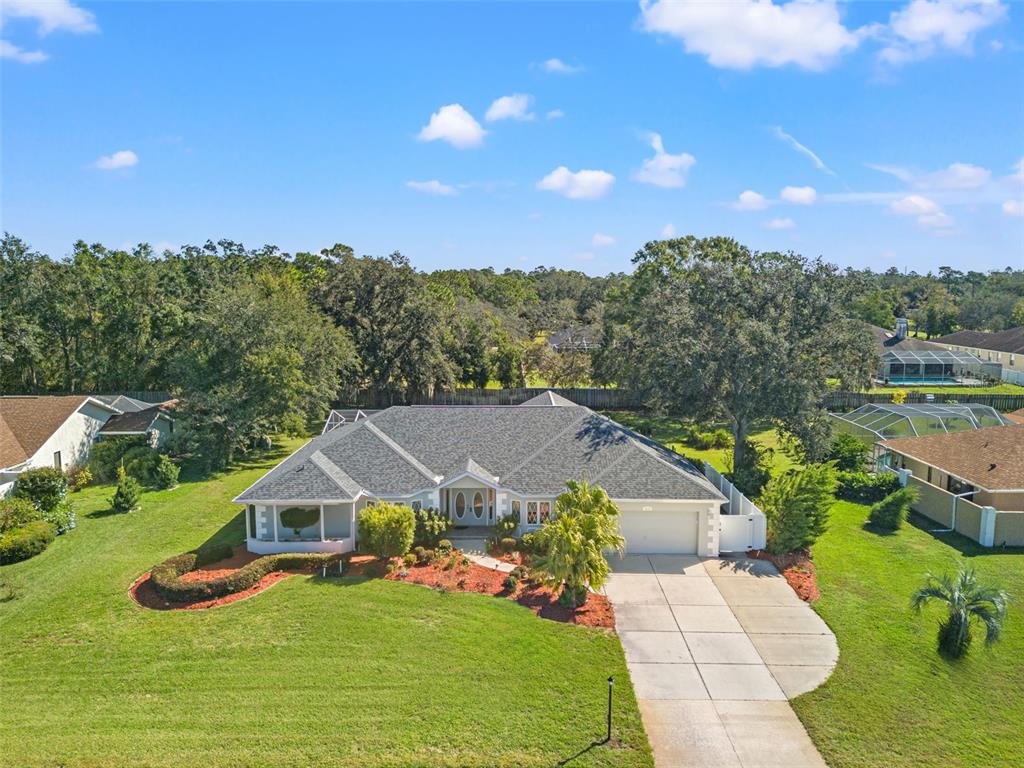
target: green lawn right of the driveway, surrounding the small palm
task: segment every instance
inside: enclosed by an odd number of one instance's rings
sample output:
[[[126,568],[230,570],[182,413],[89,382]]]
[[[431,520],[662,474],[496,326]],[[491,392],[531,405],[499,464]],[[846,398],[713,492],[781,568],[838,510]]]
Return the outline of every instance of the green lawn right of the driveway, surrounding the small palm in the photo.
[[[866,508],[839,503],[814,546],[815,609],[839,639],[839,666],[793,705],[833,768],[996,768],[1024,760],[1024,550],[991,552],[956,535],[862,527]],[[926,523],[929,527],[936,527]],[[1002,641],[962,662],[935,650],[940,613],[910,594],[928,571],[967,560],[1013,598]]]

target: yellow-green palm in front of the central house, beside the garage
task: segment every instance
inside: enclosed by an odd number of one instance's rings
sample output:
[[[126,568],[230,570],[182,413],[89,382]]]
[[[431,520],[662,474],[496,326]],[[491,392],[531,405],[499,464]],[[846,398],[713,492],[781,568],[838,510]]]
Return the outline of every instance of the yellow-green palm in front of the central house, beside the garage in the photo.
[[[570,607],[587,600],[587,588],[604,584],[610,568],[608,549],[623,550],[618,508],[604,488],[569,480],[555,500],[555,515],[537,532],[539,554],[534,569],[553,586],[565,585],[562,598]]]

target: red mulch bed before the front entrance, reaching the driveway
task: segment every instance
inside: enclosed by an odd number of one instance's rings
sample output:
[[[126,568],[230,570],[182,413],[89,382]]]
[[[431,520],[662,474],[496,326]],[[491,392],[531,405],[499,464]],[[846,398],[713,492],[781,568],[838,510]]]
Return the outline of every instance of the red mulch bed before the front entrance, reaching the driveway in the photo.
[[[558,602],[558,595],[548,587],[532,587],[526,582],[520,582],[513,592],[509,592],[502,584],[507,573],[476,563],[467,566],[456,565],[450,570],[444,570],[439,564],[431,563],[414,565],[408,570],[409,573],[404,578],[400,575],[400,570],[396,570],[385,579],[425,587],[442,587],[452,592],[479,592],[484,595],[505,597],[524,605],[542,618],[554,622],[605,629],[613,629],[615,626],[615,613],[608,598],[593,592],[587,596],[586,603],[572,610],[561,605]]]

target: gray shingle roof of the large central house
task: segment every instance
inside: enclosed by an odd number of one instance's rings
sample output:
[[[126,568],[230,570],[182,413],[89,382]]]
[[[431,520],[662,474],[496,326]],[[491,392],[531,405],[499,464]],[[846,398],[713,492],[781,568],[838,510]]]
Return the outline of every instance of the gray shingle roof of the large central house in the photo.
[[[310,440],[238,501],[407,496],[466,471],[523,495],[585,479],[613,499],[722,499],[668,449],[588,408],[552,404],[390,408]]]

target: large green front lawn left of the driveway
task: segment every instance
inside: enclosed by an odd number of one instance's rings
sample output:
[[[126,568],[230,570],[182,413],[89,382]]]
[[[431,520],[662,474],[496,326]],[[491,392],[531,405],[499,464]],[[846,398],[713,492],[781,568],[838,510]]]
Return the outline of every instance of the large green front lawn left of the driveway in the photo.
[[[79,527],[4,566],[0,765],[650,766],[618,640],[483,595],[291,577],[221,608],[158,612],[128,595],[154,563],[241,542],[229,499],[286,453],[146,493],[105,514],[74,495]]]

